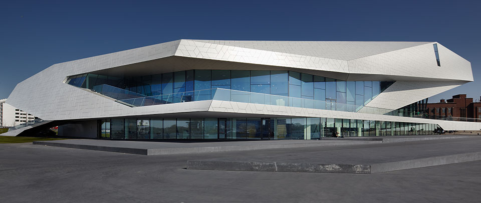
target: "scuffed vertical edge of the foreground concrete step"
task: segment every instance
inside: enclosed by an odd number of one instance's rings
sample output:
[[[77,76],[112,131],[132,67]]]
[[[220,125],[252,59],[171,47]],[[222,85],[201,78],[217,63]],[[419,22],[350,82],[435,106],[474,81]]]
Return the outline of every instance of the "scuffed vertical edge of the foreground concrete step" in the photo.
[[[455,164],[481,160],[481,152],[462,153],[447,156],[413,159],[379,164],[319,164],[319,163],[280,163],[228,160],[189,160],[187,169],[219,171],[267,171],[267,172],[309,172],[376,174],[405,169]]]

